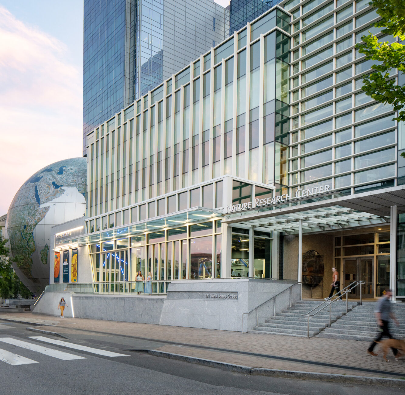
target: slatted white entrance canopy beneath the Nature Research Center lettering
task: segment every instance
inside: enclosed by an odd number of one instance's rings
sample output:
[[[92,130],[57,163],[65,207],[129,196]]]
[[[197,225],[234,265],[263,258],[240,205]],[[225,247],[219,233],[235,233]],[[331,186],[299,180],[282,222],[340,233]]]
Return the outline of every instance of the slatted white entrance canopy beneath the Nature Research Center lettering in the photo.
[[[226,214],[222,222],[260,226],[292,235],[298,233],[300,220],[303,233],[389,223],[390,207],[395,205],[398,214],[405,213],[403,186],[347,196],[335,192],[296,199]]]

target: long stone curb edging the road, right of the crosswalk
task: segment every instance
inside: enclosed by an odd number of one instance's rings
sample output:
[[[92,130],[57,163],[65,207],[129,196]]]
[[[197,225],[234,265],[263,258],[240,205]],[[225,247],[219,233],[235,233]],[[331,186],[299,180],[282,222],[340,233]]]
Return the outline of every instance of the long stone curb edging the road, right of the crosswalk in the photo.
[[[168,359],[176,359],[188,363],[195,363],[197,365],[215,367],[220,369],[229,370],[231,372],[250,374],[252,376],[268,376],[280,378],[293,378],[299,380],[316,380],[316,381],[329,381],[348,384],[367,384],[386,386],[390,388],[404,388],[405,380],[396,378],[382,378],[382,377],[367,377],[367,376],[351,376],[345,374],[333,373],[315,373],[315,372],[299,372],[295,370],[282,370],[282,369],[265,369],[260,367],[249,367],[243,365],[233,365],[231,363],[211,361],[209,359],[188,357],[187,355],[173,354],[171,352],[157,351],[157,350],[137,350],[146,351],[149,355],[155,357],[163,357]],[[404,375],[405,376],[405,375]]]

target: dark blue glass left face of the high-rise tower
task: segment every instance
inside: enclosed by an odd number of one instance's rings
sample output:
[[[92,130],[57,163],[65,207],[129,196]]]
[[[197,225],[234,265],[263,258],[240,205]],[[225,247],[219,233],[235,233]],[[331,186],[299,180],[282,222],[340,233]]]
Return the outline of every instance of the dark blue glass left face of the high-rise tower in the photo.
[[[83,147],[94,126],[126,105],[126,2],[84,2]]]

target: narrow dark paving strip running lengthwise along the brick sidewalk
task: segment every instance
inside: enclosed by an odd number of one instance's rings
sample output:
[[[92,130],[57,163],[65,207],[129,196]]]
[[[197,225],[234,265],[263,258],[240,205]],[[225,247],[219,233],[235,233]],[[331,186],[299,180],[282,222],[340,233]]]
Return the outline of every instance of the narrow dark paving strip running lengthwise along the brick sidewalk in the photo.
[[[0,320],[1,320],[0,316]],[[14,321],[14,322],[19,322],[17,320],[11,320],[9,321]],[[23,322],[24,323],[24,322]],[[35,324],[35,325],[40,325],[41,324]],[[42,326],[48,326],[47,324],[42,324]],[[56,325],[49,325],[49,326],[56,326]],[[60,327],[61,329],[73,329],[73,330],[79,330],[79,331],[85,331],[85,332],[91,332],[91,333],[102,333],[100,331],[94,331],[91,329],[80,329],[80,328],[70,328],[70,327]],[[139,337],[139,336],[131,336],[131,335],[123,335],[123,334],[115,334],[115,336],[121,336],[121,337],[129,337],[132,339],[140,339],[140,340],[147,340],[151,342],[158,342],[158,343],[164,343],[164,344],[172,344],[175,346],[185,346],[185,347],[192,347],[192,348],[201,348],[204,350],[213,350],[213,351],[222,351],[222,352],[231,352],[234,354],[243,354],[243,355],[250,355],[252,357],[261,357],[261,358],[270,358],[270,359],[277,359],[277,360],[282,360],[282,361],[288,361],[288,362],[296,362],[296,363],[307,363],[310,365],[318,365],[318,366],[324,366],[324,367],[334,367],[337,369],[348,369],[348,370],[356,370],[358,372],[368,372],[368,373],[376,373],[376,374],[388,374],[390,376],[398,376],[398,377],[405,377],[405,374],[398,373],[398,372],[392,372],[389,370],[377,370],[377,369],[368,369],[368,368],[362,368],[362,367],[355,367],[355,366],[347,366],[347,365],[337,365],[334,363],[326,363],[326,362],[317,362],[317,361],[309,361],[305,359],[296,359],[296,358],[290,358],[290,357],[279,357],[276,355],[270,355],[270,354],[258,354],[255,352],[249,352],[249,351],[242,351],[242,350],[230,350],[226,348],[213,348],[212,346],[202,346],[202,345],[196,345],[196,344],[188,344],[188,343],[179,343],[179,342],[172,342],[170,340],[161,340],[161,339],[151,339],[148,337]],[[132,351],[132,350],[128,350]],[[137,351],[137,350],[133,350]],[[367,357],[367,356],[366,356]],[[404,380],[405,382],[405,380]]]

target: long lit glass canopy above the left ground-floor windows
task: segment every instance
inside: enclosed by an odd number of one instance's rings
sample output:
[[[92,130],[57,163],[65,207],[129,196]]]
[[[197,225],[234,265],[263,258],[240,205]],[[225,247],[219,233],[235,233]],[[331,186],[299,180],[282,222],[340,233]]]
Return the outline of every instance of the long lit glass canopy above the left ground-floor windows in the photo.
[[[91,244],[104,240],[116,239],[117,237],[136,236],[145,232],[158,231],[164,228],[173,228],[173,226],[184,226],[194,222],[202,222],[211,218],[221,216],[222,212],[215,209],[206,209],[203,207],[193,207],[192,209],[177,211],[176,213],[151,218],[143,222],[137,222],[130,225],[109,228],[102,231],[89,233],[77,238],[72,238],[69,243]],[[59,246],[58,246],[59,247]]]

